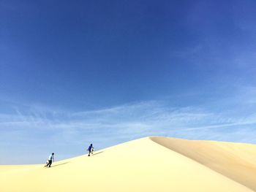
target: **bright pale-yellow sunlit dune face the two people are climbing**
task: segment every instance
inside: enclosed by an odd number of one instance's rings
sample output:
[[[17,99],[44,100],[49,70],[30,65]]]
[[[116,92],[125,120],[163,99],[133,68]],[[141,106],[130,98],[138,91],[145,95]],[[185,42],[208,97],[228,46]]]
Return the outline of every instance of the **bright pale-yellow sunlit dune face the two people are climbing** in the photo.
[[[159,145],[161,138],[126,142],[91,157],[58,161],[49,169],[43,164],[0,166],[0,191],[252,191],[167,145]]]

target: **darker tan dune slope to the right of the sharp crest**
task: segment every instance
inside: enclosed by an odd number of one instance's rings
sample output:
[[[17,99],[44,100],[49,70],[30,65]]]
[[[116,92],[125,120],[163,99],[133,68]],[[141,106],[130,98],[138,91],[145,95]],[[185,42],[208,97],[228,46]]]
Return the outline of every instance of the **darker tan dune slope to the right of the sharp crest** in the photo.
[[[256,145],[167,137],[151,139],[256,191]]]

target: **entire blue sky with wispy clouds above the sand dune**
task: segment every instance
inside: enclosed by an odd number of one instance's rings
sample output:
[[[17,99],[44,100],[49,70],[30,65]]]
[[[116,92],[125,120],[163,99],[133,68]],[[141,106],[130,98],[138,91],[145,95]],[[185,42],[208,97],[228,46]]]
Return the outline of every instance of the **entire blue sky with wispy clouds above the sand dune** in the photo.
[[[256,143],[255,1],[0,4],[0,164],[148,135]]]

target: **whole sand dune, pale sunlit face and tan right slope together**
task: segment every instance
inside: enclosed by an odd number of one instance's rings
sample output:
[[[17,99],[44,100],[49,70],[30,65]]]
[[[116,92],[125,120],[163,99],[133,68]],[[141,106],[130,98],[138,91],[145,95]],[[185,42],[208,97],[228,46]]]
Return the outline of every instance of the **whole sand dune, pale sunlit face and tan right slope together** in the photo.
[[[255,175],[254,149],[255,145],[203,141],[197,145],[184,139],[146,137],[97,151],[91,157],[58,161],[49,169],[42,164],[0,166],[0,191],[253,191],[255,178],[246,177]],[[214,158],[212,153],[216,153]],[[226,153],[228,161],[218,157]],[[237,162],[248,165],[252,172],[233,168]],[[218,164],[225,172],[209,164]],[[230,176],[236,175],[233,170],[244,174],[241,180]]]

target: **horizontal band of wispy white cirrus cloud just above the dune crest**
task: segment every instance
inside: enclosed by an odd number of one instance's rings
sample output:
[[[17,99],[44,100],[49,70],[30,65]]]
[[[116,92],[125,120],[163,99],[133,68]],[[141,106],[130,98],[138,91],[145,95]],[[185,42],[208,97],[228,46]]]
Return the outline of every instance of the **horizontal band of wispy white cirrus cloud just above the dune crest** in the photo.
[[[0,115],[2,128],[40,129],[138,129],[144,127],[157,134],[168,128],[169,131],[188,131],[208,128],[225,128],[255,124],[255,114],[246,117],[229,117],[208,112],[199,107],[166,107],[157,101],[124,104],[103,110],[85,112],[49,112],[37,110],[15,110],[15,115]],[[140,132],[140,131],[139,131]],[[168,133],[166,133],[168,134]]]

